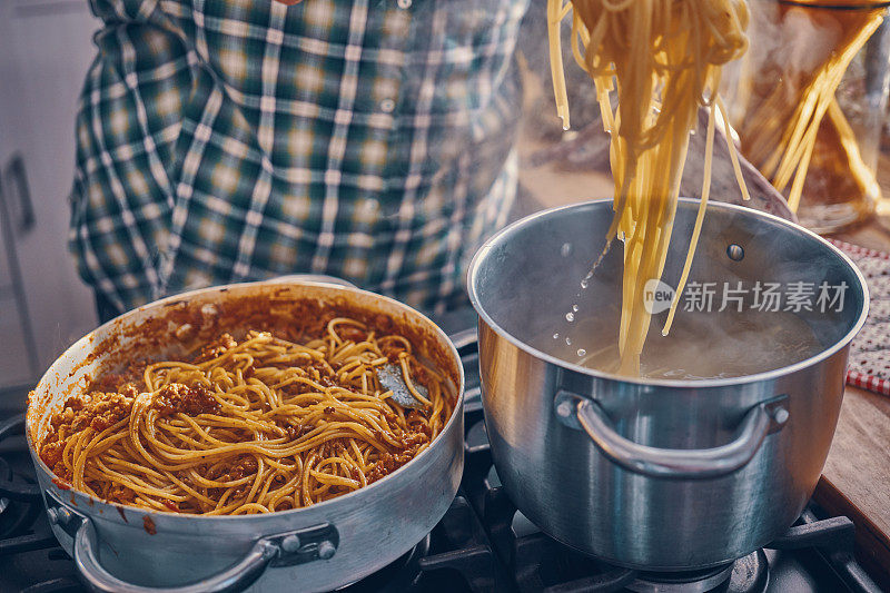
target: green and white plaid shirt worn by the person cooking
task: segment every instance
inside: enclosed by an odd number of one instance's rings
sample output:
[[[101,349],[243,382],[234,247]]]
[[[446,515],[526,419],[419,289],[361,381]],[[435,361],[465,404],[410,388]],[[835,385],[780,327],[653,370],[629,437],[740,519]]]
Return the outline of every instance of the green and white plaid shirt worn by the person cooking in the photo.
[[[70,248],[132,308],[329,274],[441,312],[516,187],[527,0],[91,0]]]

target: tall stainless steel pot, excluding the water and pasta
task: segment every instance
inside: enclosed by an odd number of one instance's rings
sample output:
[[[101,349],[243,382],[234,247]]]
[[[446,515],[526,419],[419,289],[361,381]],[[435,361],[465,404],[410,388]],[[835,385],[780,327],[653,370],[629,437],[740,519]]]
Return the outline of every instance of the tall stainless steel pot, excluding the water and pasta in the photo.
[[[692,200],[679,206],[668,284],[679,277],[696,208]],[[611,201],[544,211],[496,235],[471,266],[495,467],[531,521],[582,552],[635,569],[716,566],[781,534],[812,494],[840,411],[850,340],[866,319],[867,288],[850,260],[817,235],[714,204],[690,281],[846,283],[842,310],[811,305],[798,314],[821,352],[738,378],[600,373],[566,360],[577,360],[578,340],[590,349],[617,336],[621,245],[586,290],[578,286],[611,219]],[[650,340],[660,337],[664,315],[653,317]],[[571,350],[565,332],[575,339]]]

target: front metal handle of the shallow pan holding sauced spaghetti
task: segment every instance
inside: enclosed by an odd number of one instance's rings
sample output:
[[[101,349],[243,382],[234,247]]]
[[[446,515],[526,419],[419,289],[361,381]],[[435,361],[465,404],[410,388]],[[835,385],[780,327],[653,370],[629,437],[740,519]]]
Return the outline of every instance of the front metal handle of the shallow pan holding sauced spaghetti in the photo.
[[[152,587],[128,583],[108,572],[97,553],[99,542],[93,522],[62,504],[47,492],[50,523],[58,525],[75,540],[75,564],[82,580],[93,591],[108,593],[224,593],[250,586],[269,566],[293,566],[314,560],[328,560],[337,551],[339,534],[330,524],[316,525],[256,541],[250,551],[228,569],[180,586]]]

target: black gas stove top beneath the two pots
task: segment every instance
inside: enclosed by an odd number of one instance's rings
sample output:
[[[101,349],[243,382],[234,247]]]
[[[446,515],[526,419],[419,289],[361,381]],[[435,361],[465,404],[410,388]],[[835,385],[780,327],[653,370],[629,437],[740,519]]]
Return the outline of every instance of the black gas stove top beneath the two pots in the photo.
[[[465,466],[445,516],[413,550],[342,591],[406,592],[868,592],[881,590],[853,554],[853,524],[815,504],[763,550],[706,571],[652,573],[613,566],[545,535],[510,501],[492,464],[479,399],[478,353],[466,372]],[[8,416],[0,437],[21,433]],[[83,591],[50,532],[23,437],[0,441],[0,592]]]

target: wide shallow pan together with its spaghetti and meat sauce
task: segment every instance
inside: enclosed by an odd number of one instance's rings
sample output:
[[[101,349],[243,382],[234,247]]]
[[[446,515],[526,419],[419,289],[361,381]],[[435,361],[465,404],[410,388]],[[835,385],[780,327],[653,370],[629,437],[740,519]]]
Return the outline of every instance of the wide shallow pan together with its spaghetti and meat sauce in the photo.
[[[463,369],[393,299],[211,287],[73,344],[29,394],[52,530],[100,591],[330,591],[392,563],[463,471]]]

